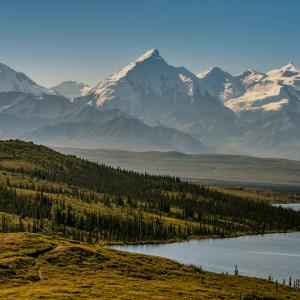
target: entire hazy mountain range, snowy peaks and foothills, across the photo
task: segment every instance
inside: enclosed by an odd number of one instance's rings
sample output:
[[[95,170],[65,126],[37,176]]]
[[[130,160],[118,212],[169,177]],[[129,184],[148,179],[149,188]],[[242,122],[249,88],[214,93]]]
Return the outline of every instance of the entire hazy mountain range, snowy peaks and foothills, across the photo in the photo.
[[[149,50],[95,87],[0,64],[0,138],[52,146],[300,159],[300,70],[193,74]]]

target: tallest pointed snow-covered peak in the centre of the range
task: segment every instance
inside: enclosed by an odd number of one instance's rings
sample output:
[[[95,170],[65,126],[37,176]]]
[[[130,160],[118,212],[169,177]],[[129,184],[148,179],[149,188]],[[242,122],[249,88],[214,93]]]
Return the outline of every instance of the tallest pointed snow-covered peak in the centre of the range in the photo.
[[[102,109],[118,108],[150,119],[170,110],[231,113],[218,99],[201,90],[196,75],[169,65],[157,49],[147,51],[75,101]]]

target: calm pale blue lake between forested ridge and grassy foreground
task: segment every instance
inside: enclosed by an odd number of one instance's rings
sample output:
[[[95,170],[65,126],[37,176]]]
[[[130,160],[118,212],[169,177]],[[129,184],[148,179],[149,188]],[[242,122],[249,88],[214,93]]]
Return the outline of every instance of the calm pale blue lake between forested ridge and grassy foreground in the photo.
[[[293,204],[300,210],[300,204]],[[300,278],[300,232],[226,239],[192,240],[159,245],[112,246],[129,252],[174,259],[205,270],[274,279]]]

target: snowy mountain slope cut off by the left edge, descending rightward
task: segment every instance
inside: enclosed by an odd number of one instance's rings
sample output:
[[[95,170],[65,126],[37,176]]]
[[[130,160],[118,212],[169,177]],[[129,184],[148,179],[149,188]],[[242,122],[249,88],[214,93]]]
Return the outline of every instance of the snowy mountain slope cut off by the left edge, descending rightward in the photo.
[[[17,72],[0,63],[0,93],[2,92],[56,94],[56,92],[38,85],[24,73]]]

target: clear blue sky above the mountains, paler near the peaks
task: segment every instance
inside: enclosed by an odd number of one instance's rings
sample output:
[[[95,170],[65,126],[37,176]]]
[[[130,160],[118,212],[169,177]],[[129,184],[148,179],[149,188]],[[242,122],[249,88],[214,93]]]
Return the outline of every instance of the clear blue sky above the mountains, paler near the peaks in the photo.
[[[0,62],[95,84],[148,49],[199,72],[300,65],[298,0],[1,0]]]

